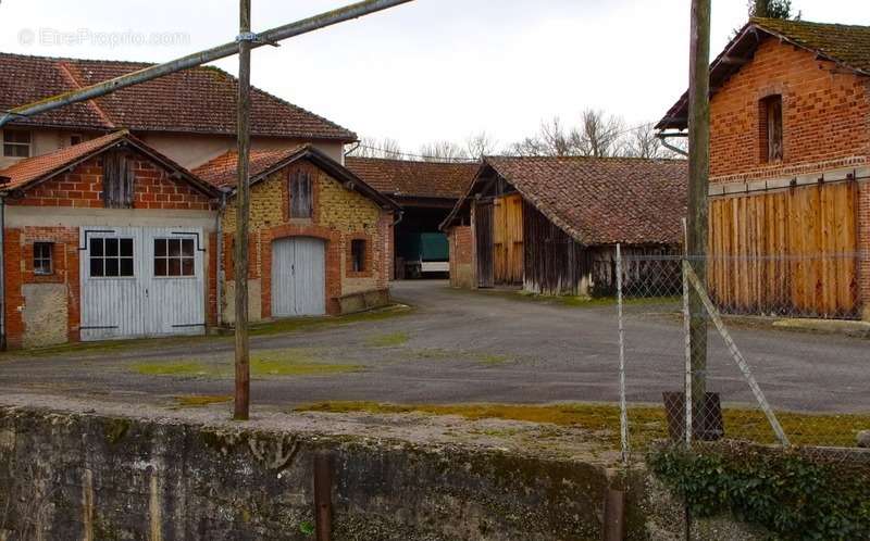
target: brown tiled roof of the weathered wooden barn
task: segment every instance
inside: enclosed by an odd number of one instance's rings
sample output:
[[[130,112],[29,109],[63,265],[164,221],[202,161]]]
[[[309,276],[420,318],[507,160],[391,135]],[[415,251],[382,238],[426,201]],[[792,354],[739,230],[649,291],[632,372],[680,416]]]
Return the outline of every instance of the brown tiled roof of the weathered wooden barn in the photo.
[[[682,239],[688,178],[684,160],[486,158],[444,226],[469,203],[488,171],[583,244],[676,243]]]

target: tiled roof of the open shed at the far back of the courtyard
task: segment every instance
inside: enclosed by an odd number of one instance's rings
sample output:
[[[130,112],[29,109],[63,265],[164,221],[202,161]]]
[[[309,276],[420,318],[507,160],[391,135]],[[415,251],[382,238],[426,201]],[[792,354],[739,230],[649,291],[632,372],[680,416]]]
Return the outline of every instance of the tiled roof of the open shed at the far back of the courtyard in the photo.
[[[370,186],[393,197],[459,199],[480,168],[476,163],[412,162],[346,158],[345,165]]]

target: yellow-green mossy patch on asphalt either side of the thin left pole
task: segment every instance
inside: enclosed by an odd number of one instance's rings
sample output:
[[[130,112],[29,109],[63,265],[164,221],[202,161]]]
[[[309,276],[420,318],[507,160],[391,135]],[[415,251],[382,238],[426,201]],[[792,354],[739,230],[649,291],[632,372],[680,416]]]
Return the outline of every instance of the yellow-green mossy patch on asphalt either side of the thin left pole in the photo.
[[[312,350],[256,351],[250,360],[251,377],[273,376],[328,376],[359,372],[363,367],[353,364],[324,362],[323,356]],[[234,375],[232,358],[222,357],[212,362],[197,360],[148,361],[132,366],[134,372],[146,376],[202,376],[215,379]]]

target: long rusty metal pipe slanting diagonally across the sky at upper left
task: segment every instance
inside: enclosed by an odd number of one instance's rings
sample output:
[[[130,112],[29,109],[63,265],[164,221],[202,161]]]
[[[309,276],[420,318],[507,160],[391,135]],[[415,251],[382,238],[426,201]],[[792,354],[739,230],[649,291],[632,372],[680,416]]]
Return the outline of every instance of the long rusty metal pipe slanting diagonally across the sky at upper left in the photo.
[[[319,15],[314,15],[308,18],[297,21],[295,23],[286,24],[284,26],[278,26],[276,28],[272,28],[270,30],[260,33],[254,36],[254,39],[252,41],[249,41],[250,47],[251,49],[254,49],[266,45],[274,46],[278,41],[295,36],[308,34],[318,30],[320,28],[325,28],[327,26],[332,26],[338,23],[344,23],[345,21],[350,21],[364,15],[376,13],[378,11],[384,11],[389,8],[394,8],[396,5],[408,3],[411,1],[413,0],[365,0],[362,2],[353,3],[350,5],[346,5],[344,8],[338,8],[336,10],[327,11]],[[245,39],[246,41],[248,41],[250,39],[250,36],[239,36],[239,39]],[[129,73],[127,75],[122,75],[113,79],[104,80],[102,83],[97,83],[96,85],[52,96],[50,98],[28,103],[26,105],[21,105],[10,111],[7,111],[5,114],[3,114],[3,116],[0,116],[0,127],[12,122],[12,119],[14,119],[15,117],[34,116],[39,113],[45,113],[47,111],[52,111],[54,109],[62,108],[64,105],[78,103],[80,101],[92,100],[95,98],[112,93],[116,90],[121,90],[122,88],[146,83],[148,80],[156,79],[158,77],[163,77],[172,73],[182,72],[184,70],[189,70],[191,67],[196,67],[201,64],[214,62],[215,60],[232,56],[238,53],[238,50],[239,50],[239,43],[237,39],[236,41],[213,47],[204,51],[195,52],[192,54],[188,54],[187,56],[182,56],[179,59],[175,59],[164,64],[149,66],[144,70]]]

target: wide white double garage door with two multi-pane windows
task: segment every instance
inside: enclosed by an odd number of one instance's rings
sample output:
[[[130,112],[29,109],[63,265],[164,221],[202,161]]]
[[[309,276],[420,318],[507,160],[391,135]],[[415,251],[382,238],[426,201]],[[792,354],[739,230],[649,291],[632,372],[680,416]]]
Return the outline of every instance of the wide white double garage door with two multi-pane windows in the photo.
[[[83,227],[82,340],[201,335],[198,228]]]

